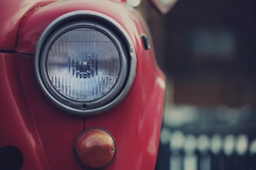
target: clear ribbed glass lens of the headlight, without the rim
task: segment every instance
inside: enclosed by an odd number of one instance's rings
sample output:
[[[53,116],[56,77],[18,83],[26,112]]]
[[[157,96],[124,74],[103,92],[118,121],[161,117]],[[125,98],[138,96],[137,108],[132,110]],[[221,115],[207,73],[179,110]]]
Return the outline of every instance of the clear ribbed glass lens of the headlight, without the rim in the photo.
[[[90,101],[104,96],[115,84],[120,58],[113,42],[90,28],[61,35],[47,58],[52,85],[67,98]]]

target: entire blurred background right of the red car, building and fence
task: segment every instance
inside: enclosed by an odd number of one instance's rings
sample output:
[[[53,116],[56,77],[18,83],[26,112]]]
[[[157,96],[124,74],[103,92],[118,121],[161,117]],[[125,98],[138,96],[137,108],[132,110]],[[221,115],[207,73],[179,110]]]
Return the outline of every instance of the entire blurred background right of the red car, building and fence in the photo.
[[[139,11],[168,81],[159,169],[256,170],[256,1],[141,0]]]

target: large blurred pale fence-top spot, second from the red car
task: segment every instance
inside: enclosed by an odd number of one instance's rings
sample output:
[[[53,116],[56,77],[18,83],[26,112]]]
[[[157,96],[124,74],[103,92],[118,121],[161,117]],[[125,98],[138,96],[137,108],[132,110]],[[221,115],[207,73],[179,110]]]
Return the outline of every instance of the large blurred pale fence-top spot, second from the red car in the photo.
[[[172,136],[170,138],[170,148],[172,150],[180,150],[183,148],[183,144],[184,144],[184,135],[183,133],[181,133],[180,131],[175,131],[174,133],[172,133]]]

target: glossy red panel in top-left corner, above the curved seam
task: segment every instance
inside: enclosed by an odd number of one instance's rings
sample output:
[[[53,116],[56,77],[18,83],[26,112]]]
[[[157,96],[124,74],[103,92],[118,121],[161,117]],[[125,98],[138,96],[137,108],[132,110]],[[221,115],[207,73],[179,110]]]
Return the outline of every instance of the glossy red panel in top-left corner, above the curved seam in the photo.
[[[15,50],[17,31],[27,11],[54,1],[0,0],[0,50]]]

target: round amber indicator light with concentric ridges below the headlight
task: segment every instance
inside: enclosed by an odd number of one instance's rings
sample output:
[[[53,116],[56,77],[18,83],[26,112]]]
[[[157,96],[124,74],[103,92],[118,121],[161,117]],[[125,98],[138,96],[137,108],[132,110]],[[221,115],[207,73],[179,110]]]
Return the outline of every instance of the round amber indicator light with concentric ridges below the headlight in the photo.
[[[106,130],[92,128],[84,130],[74,145],[76,161],[90,169],[102,169],[113,161],[116,155],[116,142]]]

